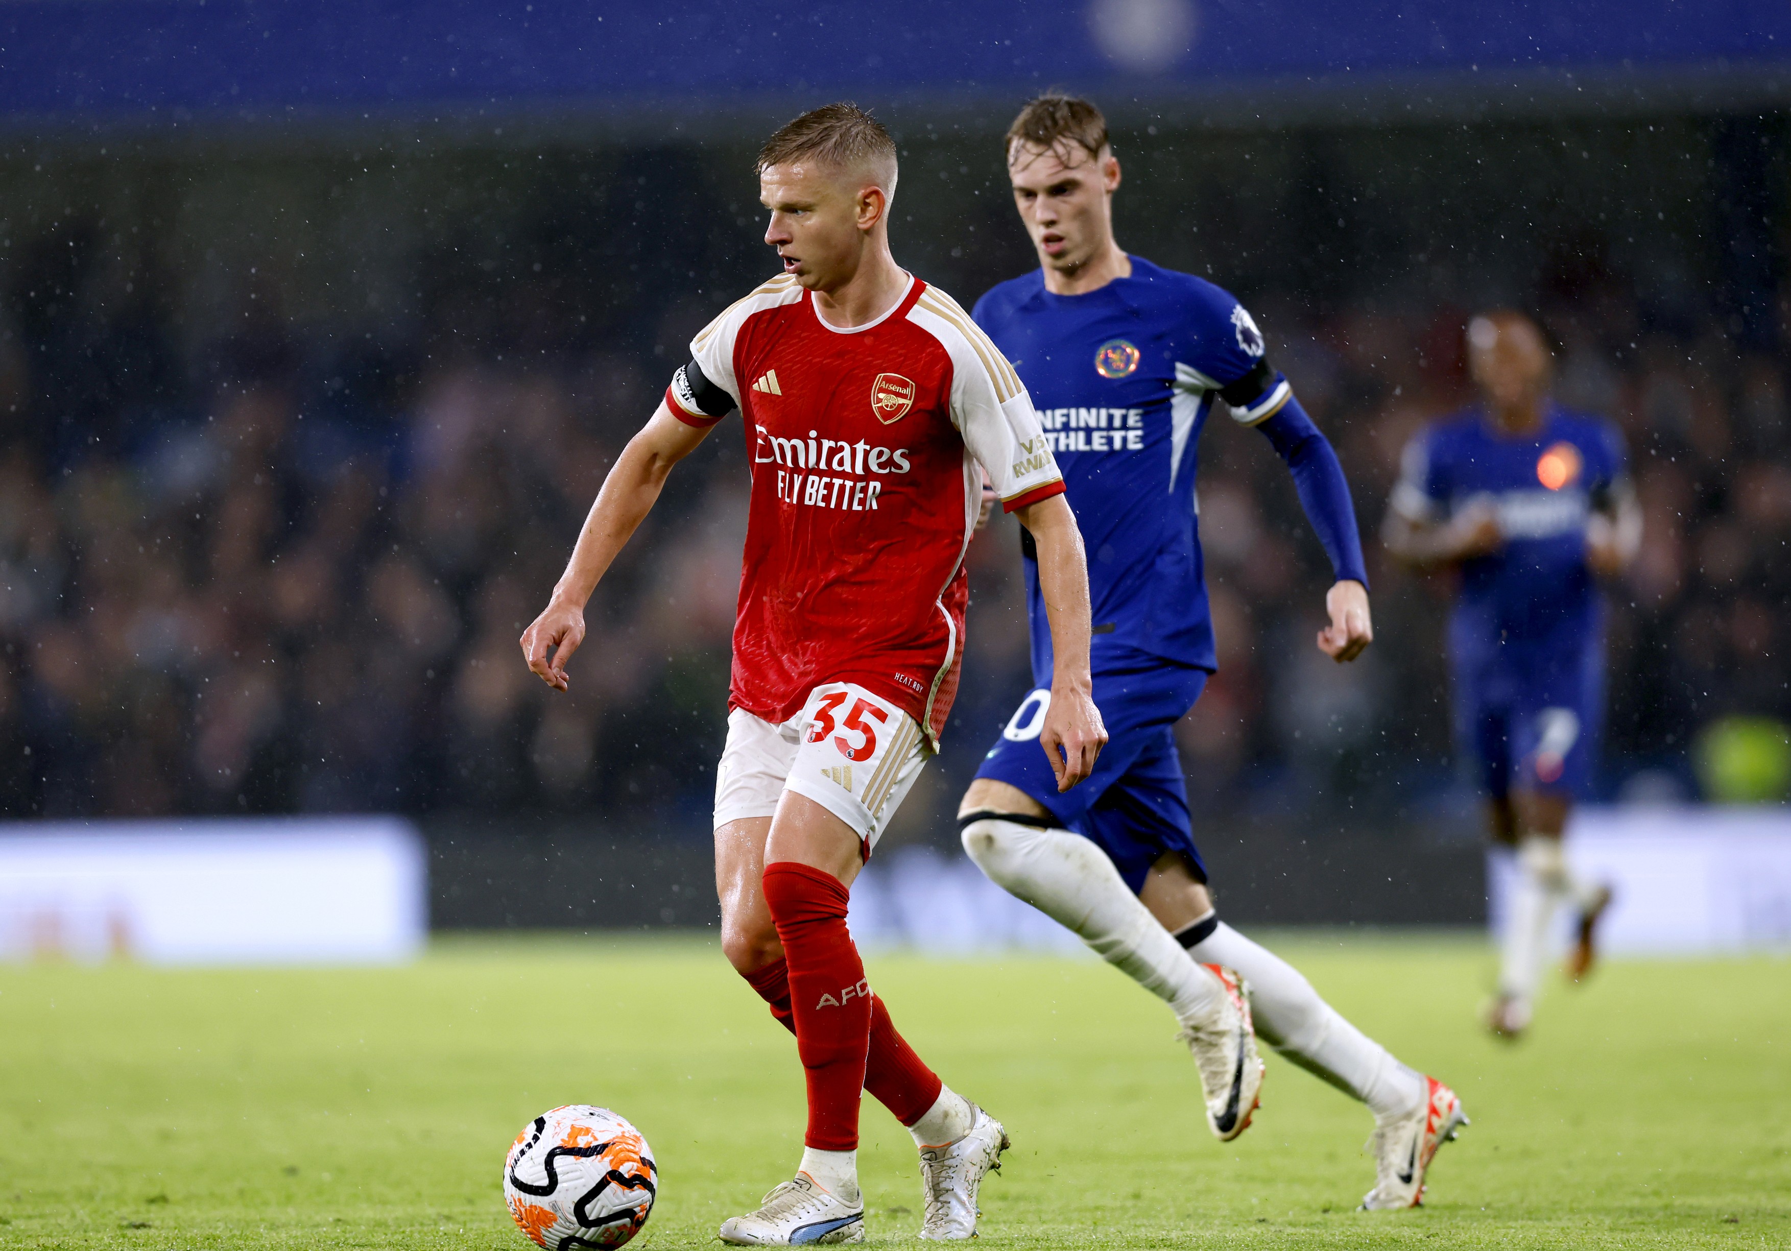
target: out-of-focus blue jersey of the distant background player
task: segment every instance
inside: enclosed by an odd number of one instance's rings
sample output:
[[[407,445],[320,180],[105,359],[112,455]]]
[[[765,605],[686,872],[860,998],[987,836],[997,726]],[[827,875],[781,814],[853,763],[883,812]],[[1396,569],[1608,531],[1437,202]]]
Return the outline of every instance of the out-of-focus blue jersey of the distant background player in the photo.
[[[1617,430],[1556,404],[1533,433],[1510,435],[1470,410],[1406,446],[1392,501],[1397,512],[1444,523],[1487,503],[1504,532],[1499,551],[1461,567],[1451,628],[1458,664],[1592,641],[1603,600],[1585,564],[1585,528],[1624,472]]]

